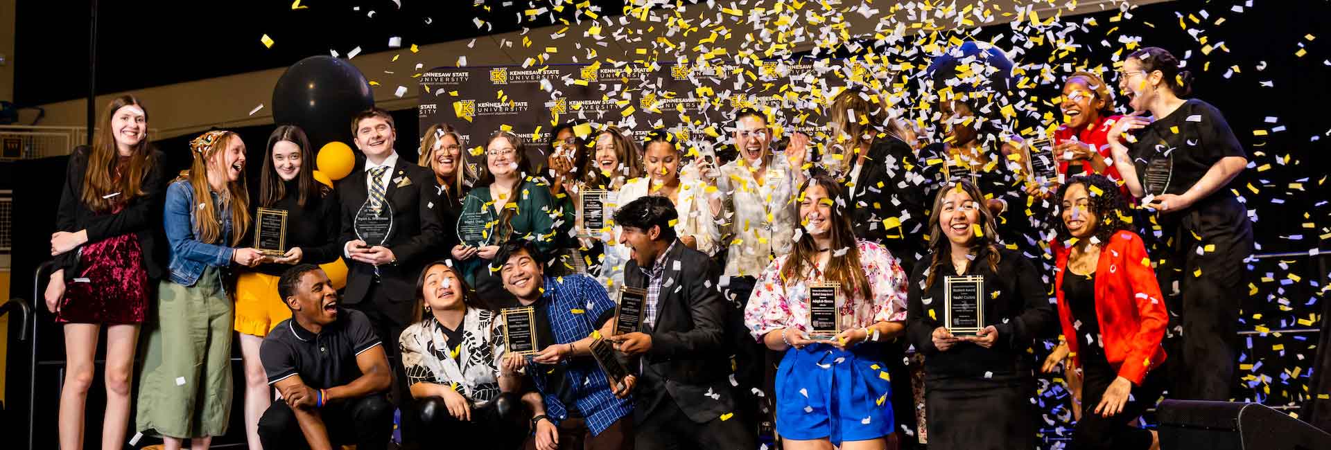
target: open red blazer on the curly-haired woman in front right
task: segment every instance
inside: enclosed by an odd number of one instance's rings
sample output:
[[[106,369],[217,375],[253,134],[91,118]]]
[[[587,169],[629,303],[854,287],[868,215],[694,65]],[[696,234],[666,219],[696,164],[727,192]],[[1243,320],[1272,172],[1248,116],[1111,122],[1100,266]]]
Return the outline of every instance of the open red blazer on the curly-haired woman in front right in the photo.
[[[1058,264],[1054,273],[1058,321],[1063,327],[1063,338],[1071,350],[1073,362],[1082,366],[1077,353],[1081,342],[1075,338],[1071,311],[1063,300],[1063,273],[1071,248],[1058,240],[1050,247]],[[1105,358],[1118,369],[1118,376],[1141,385],[1146,372],[1165,362],[1161,338],[1165,337],[1169,315],[1165,312],[1159,283],[1155,281],[1155,269],[1146,256],[1146,246],[1131,231],[1114,234],[1099,250],[1099,263],[1095,265],[1095,319],[1099,321]]]

